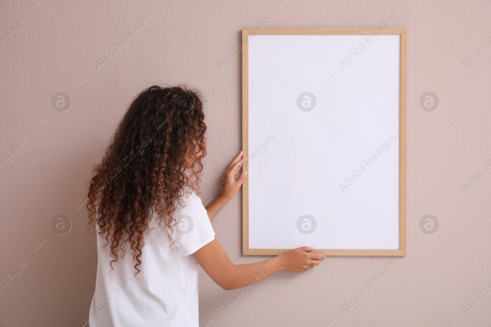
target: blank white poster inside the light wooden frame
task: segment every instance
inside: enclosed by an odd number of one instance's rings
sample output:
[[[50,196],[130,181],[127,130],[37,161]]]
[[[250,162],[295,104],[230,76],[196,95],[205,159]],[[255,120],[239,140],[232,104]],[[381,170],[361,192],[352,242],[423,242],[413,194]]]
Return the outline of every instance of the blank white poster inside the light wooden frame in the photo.
[[[399,67],[400,35],[249,36],[250,249],[399,249]]]

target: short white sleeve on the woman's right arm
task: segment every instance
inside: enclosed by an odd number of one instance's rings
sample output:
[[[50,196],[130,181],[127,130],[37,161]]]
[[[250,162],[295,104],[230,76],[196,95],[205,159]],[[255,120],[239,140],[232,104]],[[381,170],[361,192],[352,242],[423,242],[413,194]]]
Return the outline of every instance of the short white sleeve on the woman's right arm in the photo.
[[[185,195],[184,207],[179,210],[174,226],[174,246],[183,255],[190,255],[215,238],[215,231],[201,199],[192,192]]]

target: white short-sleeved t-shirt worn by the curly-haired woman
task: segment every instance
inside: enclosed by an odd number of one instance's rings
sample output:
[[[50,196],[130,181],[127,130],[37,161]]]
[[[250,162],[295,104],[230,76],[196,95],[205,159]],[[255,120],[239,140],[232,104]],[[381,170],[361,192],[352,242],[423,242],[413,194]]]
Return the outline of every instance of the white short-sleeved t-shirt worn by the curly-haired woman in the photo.
[[[198,327],[198,263],[190,254],[210,243],[215,232],[194,192],[183,198],[174,227],[173,252],[168,235],[153,219],[145,235],[135,278],[131,250],[109,265],[109,245],[97,235],[97,280],[89,313],[90,327]]]

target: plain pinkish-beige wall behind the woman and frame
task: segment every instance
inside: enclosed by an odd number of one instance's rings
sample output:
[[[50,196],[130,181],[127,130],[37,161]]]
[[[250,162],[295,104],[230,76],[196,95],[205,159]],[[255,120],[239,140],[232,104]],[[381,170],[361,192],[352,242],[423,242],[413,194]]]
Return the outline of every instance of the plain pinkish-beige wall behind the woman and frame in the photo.
[[[257,26],[270,12],[268,27],[375,27],[391,12],[397,14],[391,27],[408,27],[413,243],[345,315],[340,305],[389,258],[329,257],[301,275],[279,273],[221,315],[218,307],[237,292],[221,290],[201,272],[200,326],[488,326],[491,295],[467,315],[463,305],[491,291],[491,173],[467,192],[463,183],[484,165],[491,168],[491,50],[467,69],[463,60],[483,43],[491,46],[489,1],[37,1],[0,4],[1,33],[28,14],[0,45],[0,155],[28,138],[0,168],[0,277],[23,267],[0,291],[0,326],[87,322],[97,261],[80,207],[84,185],[143,87],[201,86],[210,127],[201,197],[217,195],[222,170],[241,149],[241,58],[221,70],[218,60],[237,48],[243,27]],[[144,29],[97,67],[98,57],[147,12]],[[419,106],[429,91],[440,99],[434,112]],[[70,96],[68,111],[52,107],[57,92]],[[213,222],[218,238],[236,263],[263,259],[241,255],[241,208],[238,194]],[[59,214],[72,222],[65,235],[51,227]],[[427,214],[440,222],[436,234],[419,228]]]

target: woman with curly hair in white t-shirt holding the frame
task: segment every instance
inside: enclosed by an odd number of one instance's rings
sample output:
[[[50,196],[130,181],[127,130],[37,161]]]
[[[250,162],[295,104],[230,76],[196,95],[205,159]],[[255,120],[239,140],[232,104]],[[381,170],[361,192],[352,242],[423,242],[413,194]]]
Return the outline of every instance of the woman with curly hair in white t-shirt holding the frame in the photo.
[[[312,248],[235,265],[211,221],[246,178],[242,151],[219,196],[199,194],[206,155],[203,103],[194,91],[151,86],[122,118],[90,181],[89,226],[97,235],[97,280],[89,326],[198,326],[198,264],[225,290],[285,270],[319,265]],[[195,193],[196,191],[196,193]]]

